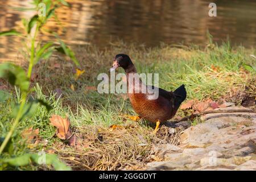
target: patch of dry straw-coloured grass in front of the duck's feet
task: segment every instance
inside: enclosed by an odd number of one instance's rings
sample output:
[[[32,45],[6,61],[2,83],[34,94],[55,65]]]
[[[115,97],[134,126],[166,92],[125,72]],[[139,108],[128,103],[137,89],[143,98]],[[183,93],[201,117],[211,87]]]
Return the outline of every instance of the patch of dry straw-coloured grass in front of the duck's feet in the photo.
[[[148,162],[163,160],[163,144],[179,144],[182,129],[170,133],[162,126],[158,133],[138,123],[122,125],[112,131],[107,127],[87,126],[76,133],[76,148],[55,147],[54,151],[74,170],[142,170]]]

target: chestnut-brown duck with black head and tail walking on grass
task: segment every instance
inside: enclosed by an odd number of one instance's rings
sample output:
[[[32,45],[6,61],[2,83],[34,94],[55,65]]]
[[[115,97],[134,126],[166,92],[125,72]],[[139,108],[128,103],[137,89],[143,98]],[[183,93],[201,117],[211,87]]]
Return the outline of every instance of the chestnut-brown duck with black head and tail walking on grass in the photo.
[[[126,117],[134,121],[143,118],[146,121],[155,123],[154,133],[157,133],[160,123],[173,118],[179,106],[187,97],[185,85],[179,86],[179,88],[172,92],[144,84],[141,78],[138,77],[137,70],[130,57],[123,53],[115,55],[109,71],[113,72],[119,67],[125,70],[129,100],[135,113],[138,114],[136,116],[126,115]],[[137,77],[134,75],[137,75]],[[157,97],[152,98],[152,92],[142,92],[143,86],[146,86],[147,89],[157,90]]]

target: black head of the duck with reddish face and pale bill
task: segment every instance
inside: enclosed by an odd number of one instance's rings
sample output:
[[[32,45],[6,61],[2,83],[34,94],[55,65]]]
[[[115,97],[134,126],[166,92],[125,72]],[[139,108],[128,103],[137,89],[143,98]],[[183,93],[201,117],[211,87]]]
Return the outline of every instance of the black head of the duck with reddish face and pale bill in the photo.
[[[109,69],[110,72],[114,71],[118,67],[122,67],[125,69],[126,73],[134,72],[134,64],[131,62],[131,59],[128,55],[125,54],[119,54],[115,56],[114,62],[112,67]]]

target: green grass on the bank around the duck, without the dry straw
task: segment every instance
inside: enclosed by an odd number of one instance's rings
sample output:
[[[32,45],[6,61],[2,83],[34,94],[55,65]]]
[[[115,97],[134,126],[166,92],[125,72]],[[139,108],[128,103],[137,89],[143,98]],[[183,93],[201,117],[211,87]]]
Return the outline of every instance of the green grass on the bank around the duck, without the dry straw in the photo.
[[[81,63],[80,69],[85,69],[84,75],[77,81],[73,77],[74,65],[63,57],[44,60],[35,65],[34,73],[38,76],[34,79],[35,93],[31,97],[46,100],[53,109],[48,113],[45,107],[40,106],[33,118],[20,122],[12,138],[13,154],[4,152],[2,159],[28,152],[38,152],[42,149],[48,150],[55,148],[56,143],[61,143],[54,137],[55,128],[49,125],[52,114],[58,114],[61,117],[68,115],[73,130],[81,134],[86,127],[88,129],[94,126],[106,128],[113,124],[132,123],[123,121],[121,117],[123,114],[135,114],[129,100],[123,100],[118,94],[100,94],[93,90],[85,92],[86,86],[97,88],[99,82],[97,75],[108,73],[113,57],[117,53],[123,52],[130,55],[139,73],[159,73],[159,86],[163,89],[174,90],[181,84],[185,84],[188,92],[187,100],[212,98],[215,101],[221,102],[225,99],[240,104],[243,97],[255,95],[255,72],[245,71],[242,66],[249,64],[255,68],[255,59],[250,56],[256,55],[255,49],[231,48],[228,43],[224,43],[222,46],[215,45],[212,49],[200,49],[195,46],[179,49],[167,45],[147,49],[143,46],[119,44],[105,51],[99,51],[93,46],[77,47],[75,50]],[[60,68],[54,68],[56,63],[60,64]],[[23,66],[27,67],[27,65]],[[214,71],[212,68],[218,68],[218,70]],[[118,72],[123,71],[119,69]],[[3,84],[9,87],[6,82]],[[75,92],[70,88],[71,84],[75,86]],[[55,89],[62,90],[62,95],[58,99]],[[20,98],[18,90],[12,88],[9,90],[12,97],[0,103],[0,137],[5,137],[10,130],[13,122],[10,113],[15,102]],[[183,117],[184,114],[179,110],[177,116]],[[194,121],[192,125],[196,123],[197,121]],[[32,149],[28,148],[20,134],[29,127],[39,129],[39,136],[42,141],[48,141],[47,145],[38,144]],[[150,132],[153,130],[146,122],[139,122],[138,127],[138,130]],[[150,137],[143,137],[151,140]],[[56,150],[56,153],[59,154],[59,151]],[[35,170],[38,166],[3,166],[2,169]]]

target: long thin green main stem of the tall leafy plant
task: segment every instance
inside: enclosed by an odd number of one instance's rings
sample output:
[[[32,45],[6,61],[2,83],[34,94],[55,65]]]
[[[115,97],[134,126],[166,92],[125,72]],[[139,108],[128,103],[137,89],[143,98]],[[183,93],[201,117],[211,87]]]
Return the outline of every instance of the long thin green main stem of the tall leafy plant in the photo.
[[[32,68],[34,66],[35,39],[36,39],[36,35],[38,34],[38,30],[39,30],[39,22],[36,24],[35,34],[32,38],[32,42],[31,42],[30,64],[28,66],[28,71],[27,71],[28,80],[30,80]],[[13,125],[11,126],[9,133],[6,135],[5,140],[3,140],[3,143],[1,144],[0,154],[2,154],[3,150],[5,149],[7,143],[9,142],[9,140],[11,138],[11,135],[13,135],[14,130],[16,129],[16,126],[18,126],[19,120],[22,117],[22,111],[23,111],[24,105],[26,104],[26,100],[27,100],[27,92],[22,92],[22,101],[20,102],[18,114],[16,115],[16,118],[14,120]]]

